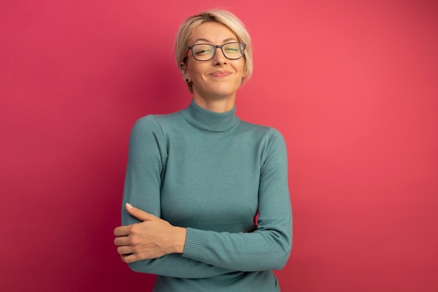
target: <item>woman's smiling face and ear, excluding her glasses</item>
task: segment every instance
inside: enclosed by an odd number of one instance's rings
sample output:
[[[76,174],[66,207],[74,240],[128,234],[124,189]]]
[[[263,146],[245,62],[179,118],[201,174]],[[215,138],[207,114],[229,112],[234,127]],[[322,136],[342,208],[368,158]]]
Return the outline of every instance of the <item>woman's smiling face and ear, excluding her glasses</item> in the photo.
[[[197,43],[223,45],[239,41],[225,25],[218,22],[204,22],[199,25],[188,40],[189,46]],[[220,48],[209,61],[197,61],[192,52],[188,53],[185,69],[181,69],[184,79],[192,81],[193,95],[202,99],[234,99],[239,89],[245,69],[245,59],[227,59]]]

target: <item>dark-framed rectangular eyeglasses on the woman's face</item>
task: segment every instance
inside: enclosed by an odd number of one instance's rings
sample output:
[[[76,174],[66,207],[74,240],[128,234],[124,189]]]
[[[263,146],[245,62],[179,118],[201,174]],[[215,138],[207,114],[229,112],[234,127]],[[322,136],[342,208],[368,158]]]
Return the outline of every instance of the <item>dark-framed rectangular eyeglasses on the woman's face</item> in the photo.
[[[216,49],[220,48],[224,56],[229,60],[237,60],[243,57],[243,52],[245,51],[245,43],[224,43],[222,46],[215,46],[209,43],[197,43],[196,45],[190,46],[185,54],[185,58],[188,57],[189,51],[192,50],[192,56],[198,61],[209,61],[213,59],[216,55]],[[184,59],[185,59],[184,58]]]

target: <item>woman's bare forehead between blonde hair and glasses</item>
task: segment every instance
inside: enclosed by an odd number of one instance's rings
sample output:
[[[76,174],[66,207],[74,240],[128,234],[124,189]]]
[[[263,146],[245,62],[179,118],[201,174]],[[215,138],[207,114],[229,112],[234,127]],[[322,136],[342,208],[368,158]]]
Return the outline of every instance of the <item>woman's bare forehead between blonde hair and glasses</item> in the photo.
[[[229,39],[238,40],[231,29],[219,22],[204,22],[192,32],[188,41],[190,44],[197,41],[222,43],[223,41],[229,41]]]

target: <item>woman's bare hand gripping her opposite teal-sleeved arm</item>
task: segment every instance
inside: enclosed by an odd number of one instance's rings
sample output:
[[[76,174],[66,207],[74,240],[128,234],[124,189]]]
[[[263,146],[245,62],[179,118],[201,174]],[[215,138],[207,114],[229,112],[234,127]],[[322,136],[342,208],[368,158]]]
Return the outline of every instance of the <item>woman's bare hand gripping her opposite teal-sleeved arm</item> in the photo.
[[[126,209],[142,222],[119,226],[114,230],[117,236],[114,244],[118,246],[117,252],[125,263],[183,253],[187,234],[185,228],[173,226],[131,204],[126,204]]]

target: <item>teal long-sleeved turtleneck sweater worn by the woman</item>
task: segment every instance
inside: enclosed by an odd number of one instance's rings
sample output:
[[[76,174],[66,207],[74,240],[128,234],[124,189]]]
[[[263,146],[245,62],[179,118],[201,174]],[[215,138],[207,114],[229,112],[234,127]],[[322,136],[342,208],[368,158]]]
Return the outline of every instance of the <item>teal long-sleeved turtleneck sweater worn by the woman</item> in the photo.
[[[187,228],[183,254],[129,264],[155,292],[274,292],[292,244],[285,142],[271,127],[191,102],[140,118],[123,204]],[[255,221],[258,211],[258,218]],[[122,208],[122,225],[138,222]]]

